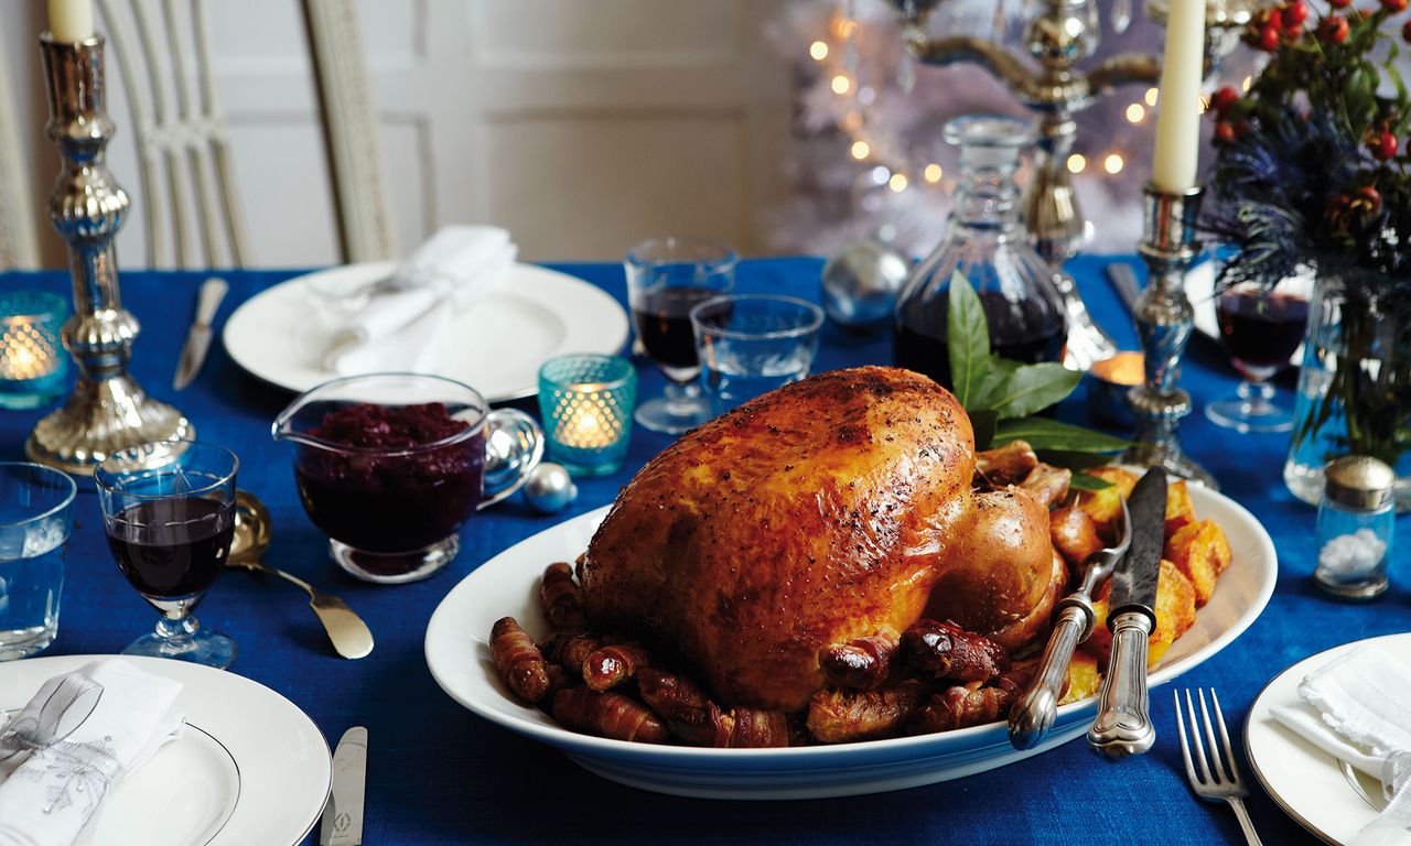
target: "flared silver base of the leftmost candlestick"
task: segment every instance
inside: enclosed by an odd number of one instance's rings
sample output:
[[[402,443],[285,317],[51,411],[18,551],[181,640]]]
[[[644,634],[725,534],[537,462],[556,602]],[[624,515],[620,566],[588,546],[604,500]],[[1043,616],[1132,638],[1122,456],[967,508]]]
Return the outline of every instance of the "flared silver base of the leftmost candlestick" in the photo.
[[[63,407],[35,424],[24,453],[31,461],[92,475],[99,462],[119,450],[195,436],[196,427],[181,412],[151,399],[126,375],[100,382],[79,379]],[[172,453],[155,450],[144,464],[162,465]]]

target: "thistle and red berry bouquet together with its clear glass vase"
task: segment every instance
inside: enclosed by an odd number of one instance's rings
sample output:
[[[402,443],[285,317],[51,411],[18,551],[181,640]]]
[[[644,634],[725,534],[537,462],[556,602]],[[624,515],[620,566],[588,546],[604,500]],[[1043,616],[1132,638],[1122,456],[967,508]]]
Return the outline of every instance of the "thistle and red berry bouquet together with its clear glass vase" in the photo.
[[[1308,0],[1287,0],[1253,20],[1245,41],[1268,63],[1247,94],[1223,87],[1211,100],[1205,224],[1236,250],[1222,285],[1267,290],[1300,265],[1316,271],[1321,323],[1307,338],[1291,464],[1359,453],[1407,477],[1411,96],[1398,58],[1411,20],[1408,0],[1371,1],[1319,0],[1315,14]]]

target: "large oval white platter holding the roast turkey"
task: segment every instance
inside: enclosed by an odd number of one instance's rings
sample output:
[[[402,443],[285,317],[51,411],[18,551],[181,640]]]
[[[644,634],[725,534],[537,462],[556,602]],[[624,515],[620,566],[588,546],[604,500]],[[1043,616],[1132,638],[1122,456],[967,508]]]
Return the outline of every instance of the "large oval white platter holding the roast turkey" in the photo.
[[[1274,544],[1235,501],[1191,486],[1195,513],[1229,536],[1233,560],[1215,595],[1163,656],[1151,684],[1197,667],[1239,636],[1268,602],[1278,572]],[[995,722],[955,732],[793,749],[691,749],[626,743],[560,728],[511,698],[490,661],[490,627],[514,615],[531,634],[547,626],[536,599],[543,568],[573,561],[587,548],[602,508],[495,556],[456,585],[426,629],[426,663],[453,699],[507,729],[562,749],[598,776],[643,790],[729,799],[797,799],[859,795],[959,778],[1038,754],[1082,735],[1096,713],[1092,699],[1058,709],[1048,737],[1017,752],[1007,726]]]

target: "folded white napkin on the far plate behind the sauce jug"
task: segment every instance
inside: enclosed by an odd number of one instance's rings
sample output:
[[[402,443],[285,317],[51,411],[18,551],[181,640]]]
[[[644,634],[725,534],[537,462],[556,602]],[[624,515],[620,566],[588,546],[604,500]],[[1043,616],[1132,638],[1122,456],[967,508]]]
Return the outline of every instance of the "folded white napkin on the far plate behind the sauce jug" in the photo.
[[[492,290],[516,254],[509,233],[499,227],[436,230],[344,320],[325,367],[344,376],[435,371],[456,310]]]

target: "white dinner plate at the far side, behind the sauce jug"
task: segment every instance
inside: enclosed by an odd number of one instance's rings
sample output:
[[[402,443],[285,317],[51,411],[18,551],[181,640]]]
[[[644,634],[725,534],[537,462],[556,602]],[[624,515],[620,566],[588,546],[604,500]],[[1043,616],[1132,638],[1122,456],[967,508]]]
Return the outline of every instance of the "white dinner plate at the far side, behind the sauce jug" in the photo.
[[[246,371],[299,393],[337,378],[323,367],[333,326],[310,320],[319,307],[310,286],[357,289],[388,276],[394,266],[382,261],[329,268],[257,293],[226,321],[226,351]],[[546,358],[615,355],[626,336],[626,313],[602,289],[516,264],[494,293],[457,312],[433,375],[464,382],[490,402],[522,399],[539,391],[539,365]]]

